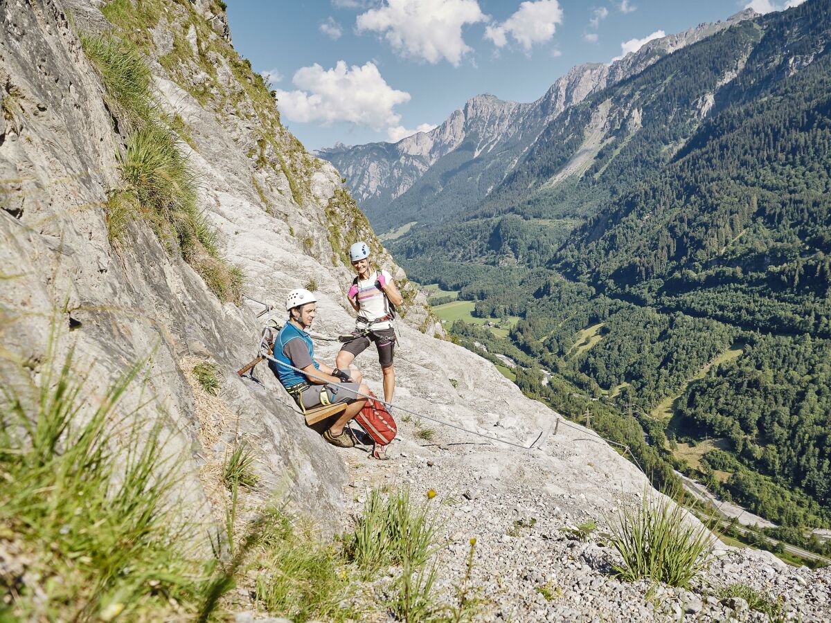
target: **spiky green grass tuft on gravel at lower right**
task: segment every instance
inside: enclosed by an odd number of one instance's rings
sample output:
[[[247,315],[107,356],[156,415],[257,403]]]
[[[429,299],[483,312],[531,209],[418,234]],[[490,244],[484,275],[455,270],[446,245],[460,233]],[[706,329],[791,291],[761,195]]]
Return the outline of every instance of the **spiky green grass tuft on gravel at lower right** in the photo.
[[[670,500],[644,492],[640,506],[622,505],[609,524],[609,542],[623,557],[614,570],[624,580],[688,586],[710,562],[710,532],[688,524],[683,508]]]

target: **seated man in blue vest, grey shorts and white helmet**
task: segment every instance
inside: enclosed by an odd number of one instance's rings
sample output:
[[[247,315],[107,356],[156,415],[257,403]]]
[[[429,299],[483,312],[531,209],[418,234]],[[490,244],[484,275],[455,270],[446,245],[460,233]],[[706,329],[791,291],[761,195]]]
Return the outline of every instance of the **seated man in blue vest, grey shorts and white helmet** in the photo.
[[[302,410],[339,402],[347,403],[347,409],[323,433],[323,439],[339,448],[352,448],[355,442],[344,431],[344,427],[366,404],[366,398],[355,392],[360,391],[366,395],[369,393],[369,387],[361,383],[360,373],[353,372],[356,377],[353,380],[346,372],[315,361],[314,346],[307,329],[312,326],[317,316],[316,302],[317,298],[305,288],[289,292],[286,299],[288,322],[274,338],[274,359],[283,364],[293,365],[302,372],[270,360],[268,367]]]

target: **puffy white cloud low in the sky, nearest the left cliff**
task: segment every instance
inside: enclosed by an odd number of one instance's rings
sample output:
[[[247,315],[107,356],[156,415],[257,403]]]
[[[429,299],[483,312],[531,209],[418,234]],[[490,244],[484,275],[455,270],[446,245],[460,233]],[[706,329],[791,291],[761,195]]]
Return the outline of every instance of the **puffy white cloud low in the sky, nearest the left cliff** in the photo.
[[[298,69],[292,81],[297,91],[277,91],[280,111],[292,121],[350,121],[382,130],[401,121],[393,108],[410,101],[410,94],[386,84],[371,62],[347,67],[337,61],[327,70],[315,63]]]

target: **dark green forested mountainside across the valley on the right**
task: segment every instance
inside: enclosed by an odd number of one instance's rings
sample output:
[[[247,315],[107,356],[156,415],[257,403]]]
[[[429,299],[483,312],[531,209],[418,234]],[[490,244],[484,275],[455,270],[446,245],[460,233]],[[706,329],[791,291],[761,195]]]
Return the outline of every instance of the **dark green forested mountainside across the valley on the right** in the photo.
[[[829,33],[831,2],[809,0],[666,56],[393,244],[479,316],[522,316],[509,341],[456,331],[567,381],[527,390],[632,412],[671,464],[777,522],[829,521]]]

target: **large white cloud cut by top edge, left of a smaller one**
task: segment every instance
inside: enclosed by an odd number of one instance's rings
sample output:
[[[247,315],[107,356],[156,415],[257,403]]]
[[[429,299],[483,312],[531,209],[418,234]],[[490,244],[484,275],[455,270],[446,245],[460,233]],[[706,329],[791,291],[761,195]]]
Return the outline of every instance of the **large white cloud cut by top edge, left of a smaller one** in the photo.
[[[462,38],[465,24],[484,22],[477,0],[386,0],[380,8],[357,17],[358,32],[384,35],[396,52],[458,66],[470,47]]]

